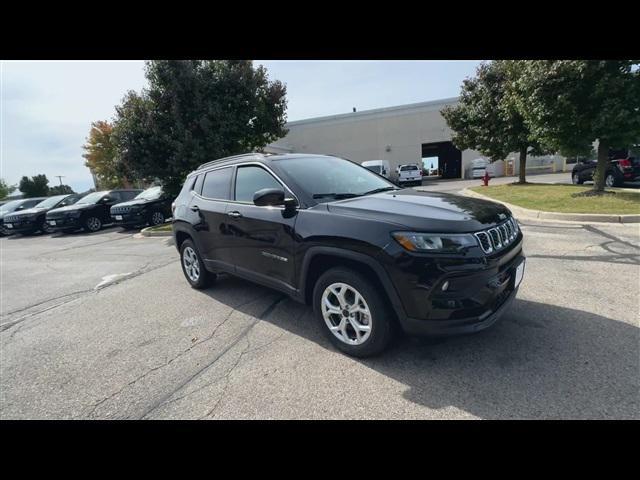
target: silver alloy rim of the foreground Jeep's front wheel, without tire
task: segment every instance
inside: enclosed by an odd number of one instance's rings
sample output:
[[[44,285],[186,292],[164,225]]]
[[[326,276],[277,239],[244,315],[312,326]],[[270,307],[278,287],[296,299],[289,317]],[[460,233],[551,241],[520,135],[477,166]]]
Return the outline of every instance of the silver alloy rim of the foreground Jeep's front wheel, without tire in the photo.
[[[321,299],[322,318],[329,331],[347,345],[362,345],[371,335],[371,311],[351,285],[332,283]]]

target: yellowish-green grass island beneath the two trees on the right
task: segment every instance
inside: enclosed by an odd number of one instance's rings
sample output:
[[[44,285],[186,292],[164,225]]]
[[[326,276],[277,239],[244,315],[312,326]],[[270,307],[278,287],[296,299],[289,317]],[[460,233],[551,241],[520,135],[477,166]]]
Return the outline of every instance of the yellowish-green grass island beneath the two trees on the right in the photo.
[[[640,192],[611,188],[607,190],[616,192],[615,195],[578,198],[571,196],[572,193],[591,189],[590,186],[544,183],[471,188],[474,192],[487,197],[532,210],[564,213],[640,214]]]

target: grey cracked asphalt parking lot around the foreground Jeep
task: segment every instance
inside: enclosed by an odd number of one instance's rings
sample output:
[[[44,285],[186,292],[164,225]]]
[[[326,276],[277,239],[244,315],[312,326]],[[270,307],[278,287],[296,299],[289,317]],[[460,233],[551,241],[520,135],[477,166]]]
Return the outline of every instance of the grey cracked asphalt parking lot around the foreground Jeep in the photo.
[[[275,291],[191,289],[170,238],[2,238],[0,418],[640,418],[640,227],[522,228],[498,324],[367,360]]]

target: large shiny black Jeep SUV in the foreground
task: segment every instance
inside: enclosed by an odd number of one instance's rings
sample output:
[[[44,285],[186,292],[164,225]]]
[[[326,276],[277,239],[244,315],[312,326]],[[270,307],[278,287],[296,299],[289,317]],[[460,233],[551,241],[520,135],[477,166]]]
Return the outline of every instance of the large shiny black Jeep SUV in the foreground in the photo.
[[[187,281],[227,272],[312,304],[331,342],[381,352],[395,327],[457,334],[492,325],[524,273],[504,206],[399,189],[322,155],[247,154],[202,165],[175,201]]]

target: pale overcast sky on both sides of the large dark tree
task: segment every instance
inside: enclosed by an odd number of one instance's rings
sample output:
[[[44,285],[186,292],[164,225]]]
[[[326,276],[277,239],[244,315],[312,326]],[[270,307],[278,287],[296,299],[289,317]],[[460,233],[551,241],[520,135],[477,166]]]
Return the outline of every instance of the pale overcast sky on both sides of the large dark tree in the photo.
[[[287,85],[288,120],[458,95],[478,61],[261,61]],[[142,61],[0,62],[0,177],[55,175],[93,186],[82,145],[92,121],[110,120],[127,90],[145,85]]]

